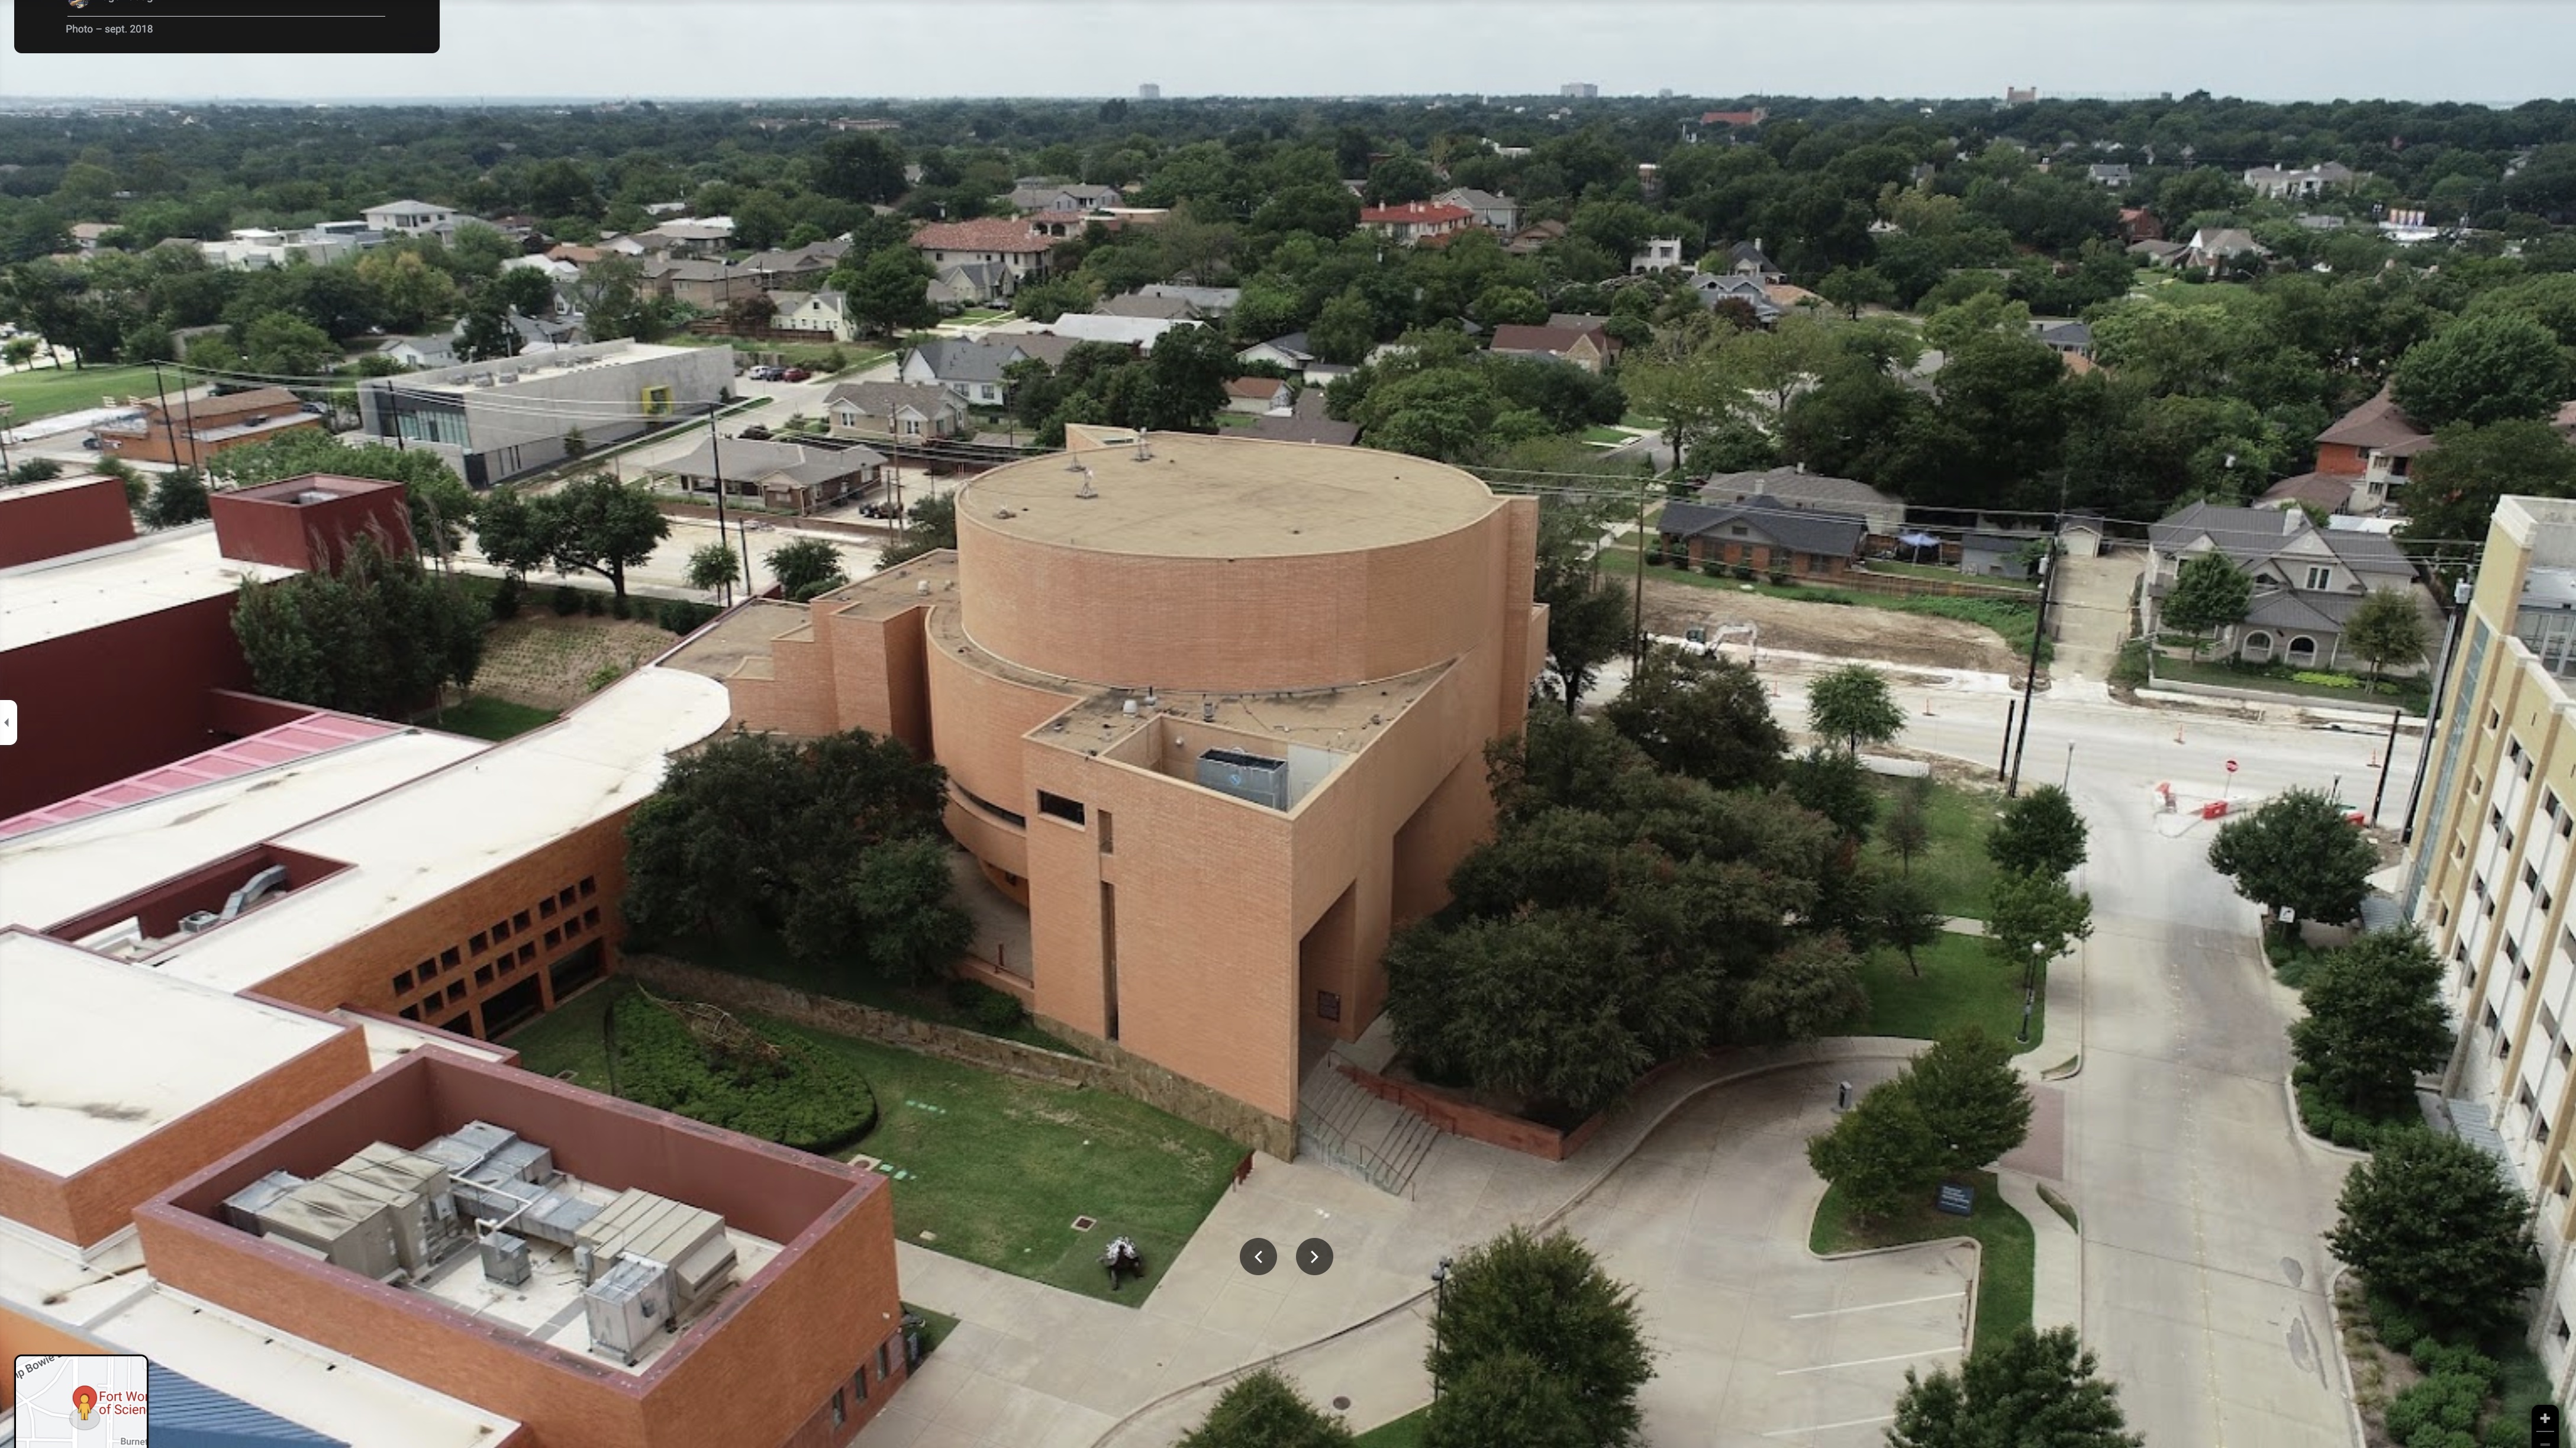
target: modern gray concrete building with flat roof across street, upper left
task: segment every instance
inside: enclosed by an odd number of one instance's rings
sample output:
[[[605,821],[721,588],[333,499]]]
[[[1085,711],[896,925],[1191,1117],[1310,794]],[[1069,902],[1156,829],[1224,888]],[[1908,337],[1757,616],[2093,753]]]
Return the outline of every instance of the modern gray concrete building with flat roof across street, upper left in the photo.
[[[569,456],[706,412],[729,394],[734,348],[590,343],[518,358],[374,376],[358,384],[368,441],[430,448],[466,484],[492,487]]]

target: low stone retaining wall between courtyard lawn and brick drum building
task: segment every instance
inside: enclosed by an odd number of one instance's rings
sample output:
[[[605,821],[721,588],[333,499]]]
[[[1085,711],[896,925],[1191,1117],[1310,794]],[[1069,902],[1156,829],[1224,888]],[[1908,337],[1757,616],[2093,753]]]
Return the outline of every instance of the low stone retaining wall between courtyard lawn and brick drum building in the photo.
[[[984,1036],[958,1025],[938,1025],[894,1010],[858,1005],[855,1000],[837,1000],[775,982],[711,971],[670,956],[621,956],[618,969],[657,995],[677,995],[721,1005],[726,1010],[775,1015],[778,1020],[806,1025],[811,1031],[881,1041],[886,1046],[902,1046],[904,1051],[920,1051],[922,1056],[938,1056],[943,1062],[958,1062],[987,1072],[1007,1072],[1077,1090],[1110,1090],[1157,1110],[1170,1110],[1172,1116],[1206,1126],[1208,1131],[1231,1136],[1244,1147],[1270,1152],[1283,1162],[1296,1157],[1296,1129],[1291,1123],[1255,1110],[1234,1098],[1218,1095],[1193,1080],[1177,1077],[1133,1051],[1121,1051],[1118,1046],[1084,1036],[1059,1020],[1038,1018],[1038,1025],[1084,1051],[1092,1051],[1095,1059],[1066,1056],[1064,1051],[1005,1041],[999,1036]]]

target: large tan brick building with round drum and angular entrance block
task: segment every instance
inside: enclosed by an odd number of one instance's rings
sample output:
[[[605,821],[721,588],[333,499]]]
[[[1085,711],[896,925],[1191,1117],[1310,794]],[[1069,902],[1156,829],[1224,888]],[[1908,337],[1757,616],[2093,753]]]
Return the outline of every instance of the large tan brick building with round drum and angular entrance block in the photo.
[[[750,729],[945,765],[948,832],[1028,907],[992,984],[1291,1152],[1301,1038],[1376,1020],[1388,933],[1492,827],[1484,747],[1548,642],[1538,502],[1373,448],[1072,428],[956,508],[956,551],[675,662]]]

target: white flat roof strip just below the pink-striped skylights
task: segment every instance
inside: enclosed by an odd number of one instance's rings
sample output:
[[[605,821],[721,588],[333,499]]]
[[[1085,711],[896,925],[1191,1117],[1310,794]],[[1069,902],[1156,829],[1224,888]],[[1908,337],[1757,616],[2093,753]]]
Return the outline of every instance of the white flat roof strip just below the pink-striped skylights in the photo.
[[[88,915],[489,747],[453,734],[386,734],[13,835],[0,840],[0,925],[41,930]]]

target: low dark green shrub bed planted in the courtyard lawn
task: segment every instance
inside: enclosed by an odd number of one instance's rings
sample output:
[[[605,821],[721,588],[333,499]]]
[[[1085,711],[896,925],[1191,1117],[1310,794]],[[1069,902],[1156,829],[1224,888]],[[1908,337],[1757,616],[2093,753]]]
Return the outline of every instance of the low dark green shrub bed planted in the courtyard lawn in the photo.
[[[618,1090],[629,1100],[817,1154],[876,1129],[868,1077],[778,1025],[750,1025],[775,1056],[708,1046],[675,1013],[641,997],[621,1000],[613,1025]]]

